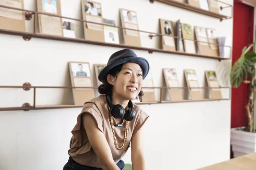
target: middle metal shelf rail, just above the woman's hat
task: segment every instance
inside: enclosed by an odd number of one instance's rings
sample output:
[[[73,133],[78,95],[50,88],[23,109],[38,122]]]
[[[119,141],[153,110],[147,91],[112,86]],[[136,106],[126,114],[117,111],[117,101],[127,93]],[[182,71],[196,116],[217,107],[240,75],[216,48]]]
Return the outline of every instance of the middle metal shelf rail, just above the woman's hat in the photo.
[[[156,36],[170,36],[173,37],[174,39],[186,39],[189,41],[194,41],[195,43],[205,43],[205,44],[214,44],[214,43],[209,43],[209,42],[203,42],[203,41],[198,41],[196,39],[188,39],[188,38],[183,38],[183,37],[178,37],[178,36],[173,36],[173,35],[165,35],[162,33],[154,33],[154,32],[148,32],[144,30],[136,30],[136,29],[130,29],[130,28],[125,28],[121,26],[113,26],[113,25],[108,25],[108,24],[103,24],[103,23],[96,23],[96,22],[91,22],[91,21],[86,21],[86,20],[81,20],[81,19],[76,19],[76,18],[70,18],[70,17],[64,17],[61,15],[56,15],[56,14],[50,14],[46,12],[39,12],[39,11],[32,11],[32,10],[26,10],[26,9],[20,9],[20,8],[14,8],[14,7],[9,7],[9,6],[4,6],[0,5],[0,8],[7,8],[7,9],[13,9],[13,10],[18,10],[18,11],[23,11],[25,18],[27,21],[31,20],[32,17],[34,16],[34,32],[21,32],[21,31],[15,31],[15,30],[5,30],[5,29],[0,29],[0,33],[3,34],[9,34],[9,35],[19,35],[22,36],[25,41],[29,41],[32,37],[34,38],[42,38],[42,39],[52,39],[52,40],[59,40],[59,41],[69,41],[69,42],[76,42],[76,43],[85,43],[85,44],[94,44],[94,45],[99,45],[99,46],[109,46],[109,47],[119,47],[119,48],[127,48],[127,49],[134,49],[134,50],[143,50],[143,51],[148,51],[148,53],[152,54],[153,52],[160,52],[160,53],[172,53],[172,54],[177,54],[177,55],[186,55],[186,56],[195,56],[195,57],[201,57],[201,58],[211,58],[211,59],[218,59],[219,61],[221,60],[226,60],[226,59],[231,59],[229,58],[222,58],[218,56],[209,56],[209,55],[200,55],[197,53],[186,53],[186,52],[179,52],[179,51],[170,51],[170,50],[163,50],[163,49],[156,49],[156,48],[148,48],[148,47],[138,47],[138,46],[129,46],[125,44],[113,44],[113,43],[105,43],[105,42],[99,42],[99,41],[91,41],[91,40],[86,40],[84,38],[67,38],[63,36],[55,36],[55,35],[45,35],[41,33],[37,33],[37,15],[47,15],[47,16],[52,16],[52,17],[58,17],[58,18],[64,18],[68,20],[73,20],[73,21],[79,21],[82,23],[92,23],[92,24],[98,24],[102,26],[108,26],[108,27],[116,27],[117,29],[124,29],[124,30],[133,30],[133,31],[138,31],[142,33],[148,33],[148,38],[152,39],[153,37]],[[230,46],[224,46],[221,44],[215,44],[218,47],[227,47],[230,49],[230,54],[232,51],[232,48]]]

